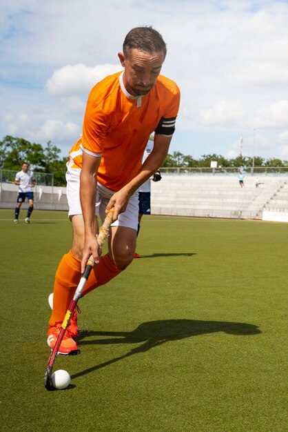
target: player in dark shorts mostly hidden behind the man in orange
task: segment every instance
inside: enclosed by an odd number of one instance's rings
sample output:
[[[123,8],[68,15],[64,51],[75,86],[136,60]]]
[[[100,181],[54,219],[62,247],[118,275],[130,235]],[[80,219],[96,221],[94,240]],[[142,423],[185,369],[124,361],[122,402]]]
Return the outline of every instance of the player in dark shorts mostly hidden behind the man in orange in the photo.
[[[147,146],[145,148],[142,163],[144,163],[145,159],[150,155],[154,146],[154,137],[151,136],[149,141],[147,142]],[[150,179],[145,181],[139,188],[139,213],[138,213],[138,230],[137,235],[140,230],[140,222],[143,215],[150,215],[150,206],[151,206],[151,180],[160,181],[161,180],[160,171],[156,171]],[[134,258],[141,258],[141,255],[138,253],[134,253]]]

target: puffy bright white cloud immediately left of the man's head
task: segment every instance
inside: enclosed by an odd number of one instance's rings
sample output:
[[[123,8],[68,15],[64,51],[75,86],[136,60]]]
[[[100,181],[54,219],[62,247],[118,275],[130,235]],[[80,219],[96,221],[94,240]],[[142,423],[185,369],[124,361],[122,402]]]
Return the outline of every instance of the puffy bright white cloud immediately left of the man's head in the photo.
[[[98,81],[121,69],[116,64],[97,65],[94,68],[83,63],[68,65],[55,70],[46,87],[55,96],[86,95]]]

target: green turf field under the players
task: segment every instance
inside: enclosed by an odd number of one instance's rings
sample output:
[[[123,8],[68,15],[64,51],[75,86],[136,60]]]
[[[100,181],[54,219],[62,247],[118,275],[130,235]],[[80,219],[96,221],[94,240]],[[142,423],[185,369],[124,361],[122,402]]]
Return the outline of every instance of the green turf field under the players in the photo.
[[[0,210],[0,430],[287,431],[288,225],[143,217],[141,259],[79,302],[81,354],[48,392],[66,213]]]

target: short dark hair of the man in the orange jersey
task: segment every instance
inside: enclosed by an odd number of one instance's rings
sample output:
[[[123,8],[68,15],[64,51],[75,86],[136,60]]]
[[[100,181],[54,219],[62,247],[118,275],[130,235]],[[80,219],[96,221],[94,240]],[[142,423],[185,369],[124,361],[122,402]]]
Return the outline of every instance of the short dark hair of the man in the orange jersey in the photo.
[[[127,51],[133,48],[150,54],[163,51],[164,58],[167,53],[163,37],[152,26],[135,27],[130,30],[123,42],[123,53],[127,55]]]

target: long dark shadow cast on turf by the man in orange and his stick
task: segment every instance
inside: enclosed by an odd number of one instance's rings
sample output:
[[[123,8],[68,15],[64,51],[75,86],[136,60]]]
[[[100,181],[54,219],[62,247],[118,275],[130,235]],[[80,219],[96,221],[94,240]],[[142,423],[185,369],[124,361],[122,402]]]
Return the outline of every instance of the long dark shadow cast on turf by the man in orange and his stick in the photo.
[[[181,340],[185,337],[205,335],[207,333],[224,332],[229,335],[258,335],[261,333],[258,326],[246,324],[243,322],[225,322],[225,321],[198,321],[198,320],[161,320],[143,322],[131,332],[121,331],[80,331],[79,345],[107,345],[107,344],[139,344],[140,346],[132,348],[128,353],[116,357],[107,362],[96,364],[89,369],[72,375],[72,379],[96,371],[110,364],[119,362],[131,355],[144,353],[155,346],[165,344],[173,340]],[[106,339],[85,340],[86,337],[99,336],[107,337]]]

